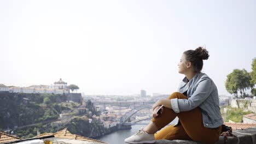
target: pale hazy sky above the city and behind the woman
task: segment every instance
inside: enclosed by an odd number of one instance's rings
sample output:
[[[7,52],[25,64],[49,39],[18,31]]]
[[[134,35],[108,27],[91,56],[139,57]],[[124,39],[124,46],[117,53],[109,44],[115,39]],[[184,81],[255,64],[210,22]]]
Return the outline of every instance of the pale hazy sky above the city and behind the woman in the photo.
[[[171,94],[185,50],[206,46],[202,72],[225,90],[252,71],[256,1],[0,1],[0,83],[85,94]]]

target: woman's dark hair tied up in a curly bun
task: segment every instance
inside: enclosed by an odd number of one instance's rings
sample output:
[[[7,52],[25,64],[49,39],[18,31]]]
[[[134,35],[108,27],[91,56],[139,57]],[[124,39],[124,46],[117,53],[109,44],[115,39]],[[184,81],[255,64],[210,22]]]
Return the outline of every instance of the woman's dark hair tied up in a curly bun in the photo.
[[[204,47],[197,47],[195,50],[188,50],[183,52],[186,56],[186,60],[191,62],[193,65],[193,70],[199,73],[202,70],[203,62],[202,60],[208,59],[208,51]]]

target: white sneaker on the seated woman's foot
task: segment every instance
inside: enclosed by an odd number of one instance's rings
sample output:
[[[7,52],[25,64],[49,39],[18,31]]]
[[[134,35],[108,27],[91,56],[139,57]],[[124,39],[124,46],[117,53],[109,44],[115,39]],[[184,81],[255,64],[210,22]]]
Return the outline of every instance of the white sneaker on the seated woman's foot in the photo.
[[[141,128],[135,135],[132,135],[125,139],[127,143],[155,143],[154,134],[150,135]]]

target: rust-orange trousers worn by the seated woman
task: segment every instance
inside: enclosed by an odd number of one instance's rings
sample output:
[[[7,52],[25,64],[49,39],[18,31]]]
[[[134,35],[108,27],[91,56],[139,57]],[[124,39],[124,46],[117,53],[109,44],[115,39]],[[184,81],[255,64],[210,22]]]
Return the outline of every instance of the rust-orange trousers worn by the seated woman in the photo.
[[[188,99],[184,94],[179,92],[171,94],[168,99],[174,98]],[[180,123],[176,126],[167,125],[172,122],[176,116],[179,118]],[[159,129],[155,134],[156,140],[194,140],[202,143],[215,143],[219,140],[222,129],[221,126],[218,128],[204,127],[202,112],[199,107],[180,113],[175,113],[172,109],[164,107],[164,111],[158,117],[153,118],[152,122]]]

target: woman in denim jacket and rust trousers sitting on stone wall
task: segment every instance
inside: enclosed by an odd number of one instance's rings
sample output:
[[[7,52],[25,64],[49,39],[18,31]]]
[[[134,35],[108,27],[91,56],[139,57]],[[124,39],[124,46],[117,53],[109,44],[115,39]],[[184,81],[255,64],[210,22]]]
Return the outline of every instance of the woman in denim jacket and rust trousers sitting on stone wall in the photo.
[[[208,51],[203,47],[183,53],[178,72],[185,77],[178,92],[171,94],[168,99],[156,101],[152,123],[125,139],[125,142],[155,143],[155,140],[166,139],[214,143],[219,140],[223,119],[218,90],[210,77],[201,73],[202,60],[208,57]],[[158,114],[156,111],[161,105],[164,107]],[[179,118],[176,124],[165,127],[176,117]]]

